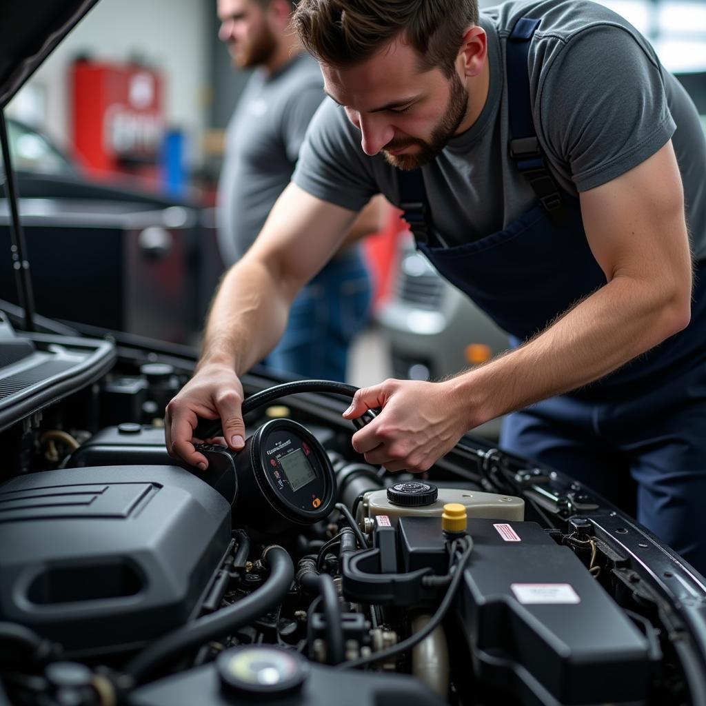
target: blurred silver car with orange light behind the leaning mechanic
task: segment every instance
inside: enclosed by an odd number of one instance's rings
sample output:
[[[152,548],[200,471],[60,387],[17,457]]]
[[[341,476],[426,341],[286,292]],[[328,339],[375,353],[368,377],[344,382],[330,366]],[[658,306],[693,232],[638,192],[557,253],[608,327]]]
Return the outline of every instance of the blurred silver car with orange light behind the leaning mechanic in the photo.
[[[392,292],[378,311],[378,322],[390,342],[395,378],[439,380],[508,348],[508,335],[441,277],[407,235],[400,238]],[[500,426],[494,419],[474,433],[497,439]]]

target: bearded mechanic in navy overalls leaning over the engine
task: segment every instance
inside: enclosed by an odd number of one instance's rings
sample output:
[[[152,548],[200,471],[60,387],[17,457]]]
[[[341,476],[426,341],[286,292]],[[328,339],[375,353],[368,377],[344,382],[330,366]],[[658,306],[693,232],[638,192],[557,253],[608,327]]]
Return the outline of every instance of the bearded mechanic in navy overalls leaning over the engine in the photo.
[[[631,25],[582,0],[481,17],[474,0],[302,0],[294,21],[332,100],[222,283],[167,447],[203,466],[200,415],[241,448],[238,375],[382,191],[515,347],[448,380],[360,390],[345,417],[383,409],[354,448],[424,471],[515,412],[504,448],[618,503],[632,476],[638,520],[706,572],[706,144],[681,85]]]

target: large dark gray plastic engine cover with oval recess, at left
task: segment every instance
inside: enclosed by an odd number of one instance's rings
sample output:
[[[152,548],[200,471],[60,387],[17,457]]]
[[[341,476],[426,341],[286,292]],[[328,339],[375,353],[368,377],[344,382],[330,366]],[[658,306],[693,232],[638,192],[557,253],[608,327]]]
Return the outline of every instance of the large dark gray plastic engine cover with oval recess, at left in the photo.
[[[229,546],[230,507],[172,466],[34,473],[0,485],[0,619],[67,657],[183,625]]]

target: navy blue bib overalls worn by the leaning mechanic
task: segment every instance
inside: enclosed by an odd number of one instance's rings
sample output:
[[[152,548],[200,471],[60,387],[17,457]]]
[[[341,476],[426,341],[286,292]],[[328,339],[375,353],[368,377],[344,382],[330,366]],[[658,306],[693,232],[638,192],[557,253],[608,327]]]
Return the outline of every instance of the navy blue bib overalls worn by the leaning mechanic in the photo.
[[[560,193],[542,158],[527,57],[539,20],[508,38],[510,154],[537,205],[504,230],[460,246],[433,244],[421,170],[399,172],[417,246],[519,345],[606,284],[577,198]],[[706,574],[706,277],[697,265],[691,323],[645,356],[582,390],[510,414],[501,445],[563,470],[635,514]],[[635,493],[635,482],[637,493]]]

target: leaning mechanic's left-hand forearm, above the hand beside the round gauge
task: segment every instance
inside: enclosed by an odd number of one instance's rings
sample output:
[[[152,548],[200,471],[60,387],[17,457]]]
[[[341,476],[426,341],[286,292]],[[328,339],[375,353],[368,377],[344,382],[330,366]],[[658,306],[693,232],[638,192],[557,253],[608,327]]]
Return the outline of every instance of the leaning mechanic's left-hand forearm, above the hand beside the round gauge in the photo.
[[[231,366],[240,376],[280,339],[289,297],[270,269],[247,256],[223,278],[206,323],[198,368]]]

